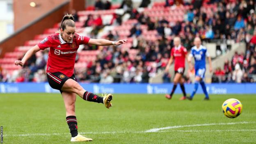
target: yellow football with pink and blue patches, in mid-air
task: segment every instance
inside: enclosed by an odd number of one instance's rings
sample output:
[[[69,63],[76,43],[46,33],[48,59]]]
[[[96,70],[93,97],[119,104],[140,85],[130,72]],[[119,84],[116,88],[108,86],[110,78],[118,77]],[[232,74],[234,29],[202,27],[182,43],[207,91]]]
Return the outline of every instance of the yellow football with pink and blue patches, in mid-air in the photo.
[[[242,103],[235,98],[230,98],[222,104],[222,112],[228,118],[236,118],[242,113]]]

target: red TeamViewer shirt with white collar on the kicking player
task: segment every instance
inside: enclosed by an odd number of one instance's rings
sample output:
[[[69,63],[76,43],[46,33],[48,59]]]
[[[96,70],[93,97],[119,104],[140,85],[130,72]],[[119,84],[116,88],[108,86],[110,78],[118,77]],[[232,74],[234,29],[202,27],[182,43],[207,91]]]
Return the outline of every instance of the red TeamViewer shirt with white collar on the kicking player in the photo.
[[[75,34],[71,42],[62,39],[59,33],[46,37],[38,46],[41,50],[50,48],[46,72],[61,72],[68,77],[74,73],[75,55],[80,44],[87,44],[88,37]]]

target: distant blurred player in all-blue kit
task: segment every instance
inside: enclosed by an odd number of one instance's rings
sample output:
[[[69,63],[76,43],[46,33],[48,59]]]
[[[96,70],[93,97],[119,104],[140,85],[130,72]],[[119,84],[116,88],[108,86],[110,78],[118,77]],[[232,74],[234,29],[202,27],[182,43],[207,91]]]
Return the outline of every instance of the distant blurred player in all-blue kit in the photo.
[[[204,78],[204,74],[206,72],[206,57],[208,57],[209,60],[209,64],[210,64],[210,72],[212,72],[212,62],[209,56],[209,53],[207,52],[207,49],[205,46],[201,45],[201,39],[199,37],[196,37],[194,39],[194,45],[191,48],[191,53],[188,56],[188,63],[190,66],[190,69],[193,69],[193,66],[191,64],[191,59],[192,57],[194,57],[195,60],[195,64],[194,64],[194,68],[195,68],[195,83],[194,83],[194,91],[192,92],[192,94],[190,95],[190,97],[187,97],[187,99],[192,100],[194,97],[194,94],[196,94],[197,89],[198,89],[198,85],[200,83],[202,89],[203,89],[203,93],[205,94],[205,98],[204,100],[209,100],[209,95],[206,91],[206,85],[203,82],[203,78]]]

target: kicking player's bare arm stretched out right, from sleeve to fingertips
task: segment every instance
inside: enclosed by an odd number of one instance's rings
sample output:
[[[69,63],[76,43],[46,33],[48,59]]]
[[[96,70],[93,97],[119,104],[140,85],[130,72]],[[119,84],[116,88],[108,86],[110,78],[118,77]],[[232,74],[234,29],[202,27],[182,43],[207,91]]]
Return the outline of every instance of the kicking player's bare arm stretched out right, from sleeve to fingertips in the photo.
[[[119,41],[109,41],[107,39],[90,39],[88,44],[97,46],[111,46],[111,45],[121,45],[127,42],[127,39],[121,39]]]

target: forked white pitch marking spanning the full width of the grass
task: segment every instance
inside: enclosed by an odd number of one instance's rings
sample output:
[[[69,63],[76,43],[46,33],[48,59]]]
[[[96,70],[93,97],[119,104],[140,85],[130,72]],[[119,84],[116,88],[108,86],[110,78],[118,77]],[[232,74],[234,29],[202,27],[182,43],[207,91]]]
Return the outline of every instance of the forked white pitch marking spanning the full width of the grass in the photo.
[[[205,124],[195,124],[195,125],[184,125],[184,126],[169,126],[165,128],[153,128],[146,131],[118,131],[118,132],[81,132],[80,134],[115,134],[115,133],[165,133],[165,132],[229,132],[229,131],[256,131],[256,129],[240,129],[240,130],[167,130],[175,128],[184,128],[184,127],[196,127],[196,126],[214,126],[214,125],[233,125],[233,124],[247,124],[247,123],[256,123],[256,122],[234,122],[234,123],[205,123]],[[165,130],[165,131],[159,131]],[[9,135],[5,134],[4,137],[8,136],[50,136],[50,135],[66,135],[69,136],[69,133],[34,133],[34,134],[19,134],[19,135]]]

